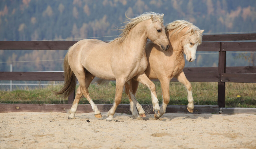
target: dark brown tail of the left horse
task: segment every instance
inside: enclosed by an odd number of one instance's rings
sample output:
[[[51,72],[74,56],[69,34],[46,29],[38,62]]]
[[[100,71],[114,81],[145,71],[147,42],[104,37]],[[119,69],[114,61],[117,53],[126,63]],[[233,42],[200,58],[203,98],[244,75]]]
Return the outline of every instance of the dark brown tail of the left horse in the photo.
[[[64,76],[65,76],[65,84],[62,89],[58,92],[54,92],[56,95],[62,95],[63,98],[67,98],[73,91],[76,89],[76,76],[74,72],[71,70],[70,65],[68,63],[68,53],[64,58]]]

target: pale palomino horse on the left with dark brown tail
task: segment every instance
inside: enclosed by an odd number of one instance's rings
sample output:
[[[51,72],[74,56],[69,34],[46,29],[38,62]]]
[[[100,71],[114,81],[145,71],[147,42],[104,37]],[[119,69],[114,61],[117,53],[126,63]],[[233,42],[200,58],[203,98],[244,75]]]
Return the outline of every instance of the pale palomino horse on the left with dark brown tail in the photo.
[[[109,43],[96,39],[81,40],[69,48],[64,59],[65,85],[56,92],[63,94],[65,98],[68,97],[76,87],[77,77],[80,86],[69,110],[69,119],[75,117],[82,95],[90,102],[95,117],[102,117],[88,92],[88,87],[95,76],[107,80],[116,79],[115,102],[108,112],[107,121],[113,120],[115,110],[121,102],[124,85],[131,88],[130,82],[135,76],[137,81],[151,87],[155,110],[160,110],[154,83],[148,79],[144,71],[147,68],[145,53],[147,39],[163,50],[169,48],[169,41],[164,32],[163,16],[148,12],[133,19],[127,17],[130,21],[121,29],[123,32],[119,38]]]

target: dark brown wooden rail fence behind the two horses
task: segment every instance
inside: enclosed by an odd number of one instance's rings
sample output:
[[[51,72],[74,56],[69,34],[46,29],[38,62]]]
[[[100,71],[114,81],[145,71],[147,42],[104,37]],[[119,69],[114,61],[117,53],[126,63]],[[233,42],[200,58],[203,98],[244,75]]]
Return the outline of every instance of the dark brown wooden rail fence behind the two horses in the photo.
[[[218,67],[184,68],[184,73],[190,82],[218,82],[219,107],[225,107],[226,82],[256,83],[256,66],[226,67],[227,51],[256,51],[256,42],[241,42],[246,40],[256,40],[256,33],[204,35],[203,42],[197,48],[197,51],[218,51]],[[68,50],[68,48],[76,42],[77,41],[0,41],[0,50]],[[64,76],[61,72],[0,72],[0,80],[63,81]],[[174,78],[171,81],[177,81],[177,79]],[[74,96],[75,91],[69,96],[68,104],[72,104]],[[2,104],[0,104],[0,107],[1,106],[3,107]],[[16,109],[19,109],[17,107],[18,106],[16,106]],[[15,108],[15,106],[13,108]]]

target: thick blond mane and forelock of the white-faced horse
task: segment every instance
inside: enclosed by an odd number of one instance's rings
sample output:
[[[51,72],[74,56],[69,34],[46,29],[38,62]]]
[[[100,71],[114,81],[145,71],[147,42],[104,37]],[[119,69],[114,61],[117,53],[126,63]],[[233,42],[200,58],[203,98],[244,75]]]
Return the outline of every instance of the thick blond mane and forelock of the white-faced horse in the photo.
[[[185,27],[188,27],[188,31],[186,33],[184,33],[183,36],[188,35],[189,40],[196,39],[197,42],[202,43],[202,32],[201,32],[201,30],[197,26],[195,26],[193,23],[190,23],[190,22],[185,21],[185,20],[176,20],[176,21],[173,21],[172,23],[169,23],[165,27],[165,32],[167,33],[169,31],[174,30],[172,35],[177,31],[178,31],[178,33],[177,33],[177,35],[178,35]]]

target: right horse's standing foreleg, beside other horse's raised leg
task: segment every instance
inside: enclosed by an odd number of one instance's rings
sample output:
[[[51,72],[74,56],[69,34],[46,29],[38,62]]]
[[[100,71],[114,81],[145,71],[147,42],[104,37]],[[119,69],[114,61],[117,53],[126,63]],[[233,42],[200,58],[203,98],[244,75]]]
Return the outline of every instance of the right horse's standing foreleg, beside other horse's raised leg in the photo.
[[[159,80],[161,82],[161,88],[162,88],[163,99],[164,99],[163,106],[160,108],[159,117],[161,117],[166,112],[166,108],[170,102],[170,90],[169,90],[170,77],[160,78]],[[156,118],[159,118],[159,117],[156,117]]]

